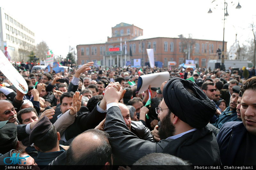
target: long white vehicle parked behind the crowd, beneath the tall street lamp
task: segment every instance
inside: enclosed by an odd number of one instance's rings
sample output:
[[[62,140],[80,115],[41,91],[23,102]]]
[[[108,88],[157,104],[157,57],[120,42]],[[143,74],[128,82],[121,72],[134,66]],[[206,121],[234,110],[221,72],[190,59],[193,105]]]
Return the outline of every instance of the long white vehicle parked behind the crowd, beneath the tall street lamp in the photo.
[[[243,68],[243,67],[252,67],[252,61],[248,60],[224,60],[224,65],[226,70],[229,67]],[[208,67],[219,68],[221,66],[221,60],[209,60]]]

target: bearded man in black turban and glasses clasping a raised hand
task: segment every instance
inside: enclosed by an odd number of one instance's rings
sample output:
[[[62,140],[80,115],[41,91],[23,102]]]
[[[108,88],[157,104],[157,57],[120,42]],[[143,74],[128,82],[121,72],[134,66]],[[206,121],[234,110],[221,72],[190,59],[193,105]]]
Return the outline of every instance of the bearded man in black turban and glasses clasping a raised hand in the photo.
[[[124,164],[132,165],[154,152],[169,153],[194,165],[221,164],[216,138],[206,127],[216,106],[195,83],[173,78],[164,85],[164,98],[156,108],[161,121],[158,143],[139,139],[129,131],[118,107],[123,93],[119,83],[110,83],[103,100],[107,101],[104,130],[110,135],[113,154],[122,157]]]

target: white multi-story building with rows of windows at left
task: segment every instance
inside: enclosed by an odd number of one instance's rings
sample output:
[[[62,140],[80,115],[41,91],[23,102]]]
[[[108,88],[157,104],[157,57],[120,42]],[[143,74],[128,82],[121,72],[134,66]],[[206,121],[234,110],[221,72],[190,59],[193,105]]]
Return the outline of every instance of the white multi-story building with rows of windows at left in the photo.
[[[27,61],[27,56],[35,49],[35,33],[0,7],[1,51],[4,52],[5,46],[12,61]]]

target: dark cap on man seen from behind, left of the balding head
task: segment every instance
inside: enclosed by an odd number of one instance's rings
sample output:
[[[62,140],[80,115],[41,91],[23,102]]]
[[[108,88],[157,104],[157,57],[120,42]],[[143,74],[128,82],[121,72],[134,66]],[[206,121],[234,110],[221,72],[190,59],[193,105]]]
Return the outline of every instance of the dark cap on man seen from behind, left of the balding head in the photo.
[[[52,128],[52,123],[50,122],[48,117],[44,116],[32,128],[29,135],[29,145],[32,145],[35,139],[43,137],[51,128]]]

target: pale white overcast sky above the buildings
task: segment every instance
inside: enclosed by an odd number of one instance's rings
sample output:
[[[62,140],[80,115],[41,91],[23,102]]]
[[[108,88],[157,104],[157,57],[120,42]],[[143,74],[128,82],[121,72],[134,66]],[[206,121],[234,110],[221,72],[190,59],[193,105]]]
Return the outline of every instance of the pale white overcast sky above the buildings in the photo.
[[[66,56],[68,47],[106,40],[111,27],[134,24],[145,36],[223,40],[224,0],[6,0],[1,7],[35,32],[36,44],[44,40],[55,55]],[[240,46],[252,39],[256,0],[226,0],[225,41]],[[209,8],[212,13],[208,14]]]

